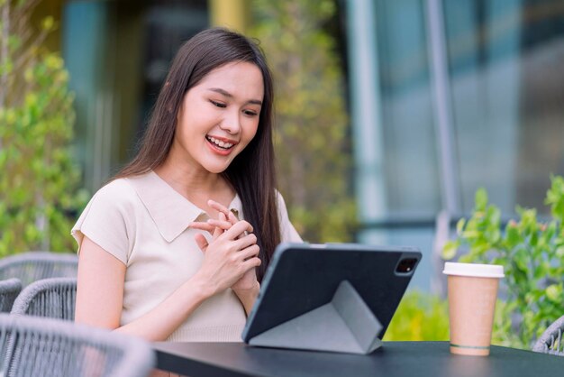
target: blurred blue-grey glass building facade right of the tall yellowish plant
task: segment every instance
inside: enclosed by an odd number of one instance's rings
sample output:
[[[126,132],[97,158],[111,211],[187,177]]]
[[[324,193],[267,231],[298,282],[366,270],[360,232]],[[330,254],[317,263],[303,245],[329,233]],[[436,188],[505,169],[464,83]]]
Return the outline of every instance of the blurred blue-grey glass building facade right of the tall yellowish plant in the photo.
[[[564,2],[342,4],[359,240],[418,245],[425,280],[479,187],[505,216],[547,213],[564,173]]]

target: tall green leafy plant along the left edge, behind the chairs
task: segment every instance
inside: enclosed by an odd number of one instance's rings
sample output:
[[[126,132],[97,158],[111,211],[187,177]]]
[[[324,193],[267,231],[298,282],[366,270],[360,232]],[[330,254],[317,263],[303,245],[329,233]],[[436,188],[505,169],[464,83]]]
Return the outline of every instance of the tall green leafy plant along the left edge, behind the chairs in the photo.
[[[48,17],[32,30],[36,3],[0,0],[0,256],[72,250],[70,215],[86,199],[69,148],[68,73],[42,47],[56,25]]]

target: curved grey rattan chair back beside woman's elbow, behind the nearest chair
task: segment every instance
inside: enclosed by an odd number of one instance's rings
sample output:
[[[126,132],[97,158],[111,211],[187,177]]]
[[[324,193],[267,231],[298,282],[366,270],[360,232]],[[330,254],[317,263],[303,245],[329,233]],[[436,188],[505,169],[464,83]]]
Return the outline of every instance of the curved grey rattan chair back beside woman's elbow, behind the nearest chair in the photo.
[[[12,314],[74,320],[76,300],[76,278],[41,279],[22,290]]]

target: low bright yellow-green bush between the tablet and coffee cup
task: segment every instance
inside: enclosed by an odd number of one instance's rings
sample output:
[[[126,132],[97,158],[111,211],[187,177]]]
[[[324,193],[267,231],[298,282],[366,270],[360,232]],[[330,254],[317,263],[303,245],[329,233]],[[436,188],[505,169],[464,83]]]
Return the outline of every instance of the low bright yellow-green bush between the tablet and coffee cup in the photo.
[[[384,340],[449,340],[449,312],[445,300],[410,291],[397,307]]]

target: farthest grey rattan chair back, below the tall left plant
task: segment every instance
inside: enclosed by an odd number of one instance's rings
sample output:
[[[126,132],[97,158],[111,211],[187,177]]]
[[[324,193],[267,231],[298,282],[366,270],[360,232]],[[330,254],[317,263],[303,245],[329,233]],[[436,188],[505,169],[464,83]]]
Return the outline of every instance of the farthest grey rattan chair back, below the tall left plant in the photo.
[[[26,287],[47,278],[76,278],[78,257],[71,253],[28,252],[0,259],[0,280],[17,278]]]

